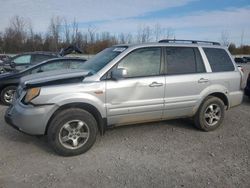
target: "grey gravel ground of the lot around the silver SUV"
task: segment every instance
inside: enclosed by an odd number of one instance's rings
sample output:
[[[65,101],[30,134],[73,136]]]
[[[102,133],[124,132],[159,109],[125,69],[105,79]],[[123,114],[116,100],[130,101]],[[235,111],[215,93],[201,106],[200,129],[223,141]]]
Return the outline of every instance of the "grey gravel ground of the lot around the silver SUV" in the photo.
[[[244,65],[250,70],[250,63]],[[246,71],[247,72],[247,71]],[[60,157],[46,138],[24,135],[0,106],[3,187],[250,187],[250,100],[223,126],[201,132],[190,120],[114,128],[87,153]]]

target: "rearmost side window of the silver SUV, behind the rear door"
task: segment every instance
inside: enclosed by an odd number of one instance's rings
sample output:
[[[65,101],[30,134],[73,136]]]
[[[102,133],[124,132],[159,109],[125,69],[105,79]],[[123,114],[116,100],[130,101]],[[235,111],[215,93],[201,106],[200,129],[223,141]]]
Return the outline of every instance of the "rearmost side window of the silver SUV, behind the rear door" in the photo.
[[[203,48],[213,72],[234,71],[234,65],[224,49]]]

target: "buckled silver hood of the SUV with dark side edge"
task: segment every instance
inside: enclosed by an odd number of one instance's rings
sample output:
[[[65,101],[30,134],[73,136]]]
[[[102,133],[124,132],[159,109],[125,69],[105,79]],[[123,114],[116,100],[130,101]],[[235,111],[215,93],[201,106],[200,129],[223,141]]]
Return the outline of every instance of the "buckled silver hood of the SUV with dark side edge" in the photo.
[[[88,75],[90,75],[89,71],[84,70],[65,69],[60,71],[48,71],[24,76],[20,80],[20,85],[22,88],[31,88],[66,83],[77,83],[81,82],[84,77]]]

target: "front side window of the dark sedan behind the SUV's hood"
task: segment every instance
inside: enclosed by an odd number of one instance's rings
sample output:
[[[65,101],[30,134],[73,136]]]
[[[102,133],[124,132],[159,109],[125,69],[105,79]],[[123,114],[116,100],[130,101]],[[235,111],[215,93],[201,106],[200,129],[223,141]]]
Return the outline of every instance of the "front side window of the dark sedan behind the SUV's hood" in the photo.
[[[32,70],[33,73],[38,72],[47,72],[47,71],[53,71],[53,70],[61,70],[61,69],[67,69],[67,62],[64,61],[53,61],[51,63],[39,66]]]

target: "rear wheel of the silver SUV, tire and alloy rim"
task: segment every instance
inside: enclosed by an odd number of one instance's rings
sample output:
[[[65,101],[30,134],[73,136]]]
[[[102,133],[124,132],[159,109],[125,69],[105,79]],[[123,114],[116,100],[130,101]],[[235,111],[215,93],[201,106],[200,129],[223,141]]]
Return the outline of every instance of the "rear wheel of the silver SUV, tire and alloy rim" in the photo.
[[[213,131],[221,126],[225,115],[225,105],[218,97],[209,96],[199,107],[194,116],[194,123],[198,129]]]

